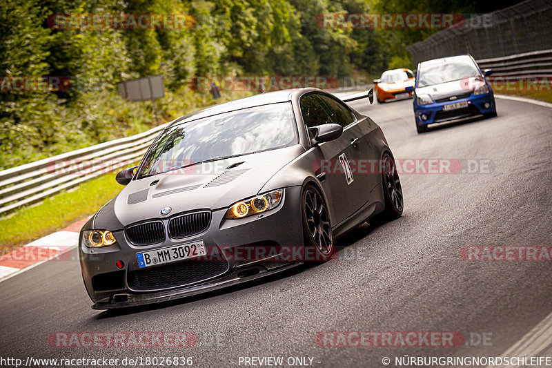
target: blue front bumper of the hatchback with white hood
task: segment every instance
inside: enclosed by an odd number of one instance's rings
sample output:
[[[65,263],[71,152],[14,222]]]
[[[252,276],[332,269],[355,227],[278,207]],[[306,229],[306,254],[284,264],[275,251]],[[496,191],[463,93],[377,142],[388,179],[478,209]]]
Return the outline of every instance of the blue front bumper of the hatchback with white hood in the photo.
[[[466,101],[468,103],[467,108],[458,108],[455,110],[444,111],[445,105]],[[489,108],[485,108],[485,104],[489,104]],[[434,102],[428,105],[415,105],[414,115],[416,124],[429,125],[449,122],[451,120],[463,119],[466,117],[474,117],[477,115],[484,115],[486,113],[493,113],[496,111],[495,98],[493,93],[486,93],[484,95],[471,96],[464,99],[457,99],[455,101],[447,102]],[[422,115],[425,115],[425,119],[422,119]]]

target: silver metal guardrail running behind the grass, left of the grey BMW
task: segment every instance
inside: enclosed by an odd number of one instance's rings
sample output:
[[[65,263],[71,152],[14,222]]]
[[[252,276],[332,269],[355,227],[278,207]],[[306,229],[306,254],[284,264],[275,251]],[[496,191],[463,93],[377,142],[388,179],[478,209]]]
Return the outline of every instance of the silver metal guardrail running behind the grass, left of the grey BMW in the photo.
[[[75,187],[106,173],[106,169],[113,171],[141,159],[167,124],[0,171],[0,215]]]

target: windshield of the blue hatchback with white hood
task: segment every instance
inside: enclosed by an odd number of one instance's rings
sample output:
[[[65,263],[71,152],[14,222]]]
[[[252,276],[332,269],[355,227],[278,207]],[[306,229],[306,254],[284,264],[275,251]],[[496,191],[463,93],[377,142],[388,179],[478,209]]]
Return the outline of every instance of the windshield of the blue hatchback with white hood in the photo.
[[[471,59],[445,61],[440,64],[422,64],[420,72],[418,72],[418,87],[433,86],[478,75],[480,72]]]

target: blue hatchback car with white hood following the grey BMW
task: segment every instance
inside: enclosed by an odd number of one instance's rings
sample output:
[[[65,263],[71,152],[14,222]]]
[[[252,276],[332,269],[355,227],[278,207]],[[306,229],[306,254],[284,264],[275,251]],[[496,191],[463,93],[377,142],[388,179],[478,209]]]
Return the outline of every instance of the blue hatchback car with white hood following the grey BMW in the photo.
[[[483,115],[496,116],[493,89],[471,55],[457,55],[418,64],[414,90],[416,130],[431,124]]]

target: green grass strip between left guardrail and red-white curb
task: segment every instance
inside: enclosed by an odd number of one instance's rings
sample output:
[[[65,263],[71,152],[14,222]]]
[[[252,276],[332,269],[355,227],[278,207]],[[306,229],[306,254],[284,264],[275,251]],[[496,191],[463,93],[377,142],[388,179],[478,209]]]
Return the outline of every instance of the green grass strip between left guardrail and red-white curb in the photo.
[[[1,254],[93,215],[122,188],[110,173],[0,218]]]

